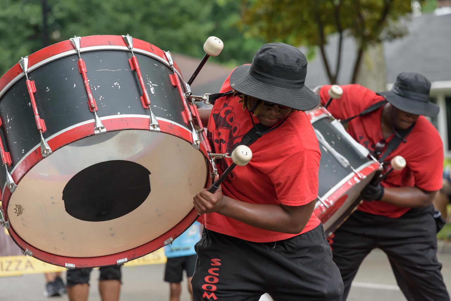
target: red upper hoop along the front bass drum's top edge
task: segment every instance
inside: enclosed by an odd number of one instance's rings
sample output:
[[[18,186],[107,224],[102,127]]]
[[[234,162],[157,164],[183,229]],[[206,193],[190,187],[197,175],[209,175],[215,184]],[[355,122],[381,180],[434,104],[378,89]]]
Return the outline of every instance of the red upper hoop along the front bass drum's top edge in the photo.
[[[80,53],[83,53],[85,51],[105,49],[130,51],[122,36],[116,35],[82,36],[80,47]],[[167,66],[170,66],[165,52],[149,42],[133,38],[133,51],[152,56],[156,59],[159,59],[161,62],[164,62]],[[32,53],[31,55],[28,55],[28,71],[31,72],[41,64],[46,64],[55,59],[74,54],[77,54],[77,51],[74,49],[74,46],[72,46],[69,40],[64,40],[51,46],[47,46]],[[175,62],[172,62],[172,64],[174,65],[175,70],[181,76],[181,72],[177,64]],[[20,67],[19,63],[11,67],[0,78],[0,97],[10,85],[14,84],[14,82],[24,76],[25,74],[23,73],[23,69]]]

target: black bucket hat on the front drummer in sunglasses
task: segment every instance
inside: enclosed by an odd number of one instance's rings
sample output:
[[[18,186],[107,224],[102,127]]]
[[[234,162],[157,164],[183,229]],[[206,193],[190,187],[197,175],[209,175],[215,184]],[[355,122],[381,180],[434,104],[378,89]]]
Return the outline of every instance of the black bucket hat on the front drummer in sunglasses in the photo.
[[[232,89],[292,109],[307,111],[319,96],[305,87],[307,59],[296,47],[284,43],[263,45],[252,64],[241,65],[230,75]]]

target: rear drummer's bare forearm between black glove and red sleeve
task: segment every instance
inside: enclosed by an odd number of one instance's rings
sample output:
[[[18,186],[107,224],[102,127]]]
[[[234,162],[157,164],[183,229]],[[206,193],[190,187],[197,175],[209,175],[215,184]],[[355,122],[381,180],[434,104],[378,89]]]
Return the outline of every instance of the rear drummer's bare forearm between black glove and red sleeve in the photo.
[[[385,187],[381,201],[400,207],[420,208],[427,207],[437,191],[423,191],[418,187]]]

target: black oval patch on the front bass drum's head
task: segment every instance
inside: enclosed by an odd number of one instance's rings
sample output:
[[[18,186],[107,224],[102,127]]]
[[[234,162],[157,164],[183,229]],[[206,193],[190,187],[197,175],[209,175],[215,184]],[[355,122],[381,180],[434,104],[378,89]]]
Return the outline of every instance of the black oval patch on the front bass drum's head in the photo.
[[[141,164],[110,160],[93,164],[72,177],[63,189],[64,207],[76,219],[101,222],[117,219],[143,204],[150,172]]]

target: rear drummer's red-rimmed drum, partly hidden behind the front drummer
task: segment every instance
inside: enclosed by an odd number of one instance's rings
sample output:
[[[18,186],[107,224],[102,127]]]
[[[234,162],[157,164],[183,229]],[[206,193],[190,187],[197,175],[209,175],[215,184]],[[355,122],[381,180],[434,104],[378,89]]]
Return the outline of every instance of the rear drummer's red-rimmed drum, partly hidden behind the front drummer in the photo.
[[[327,109],[321,107],[307,115],[321,149],[318,201],[313,212],[329,236],[357,208],[360,192],[382,165],[345,132]]]

